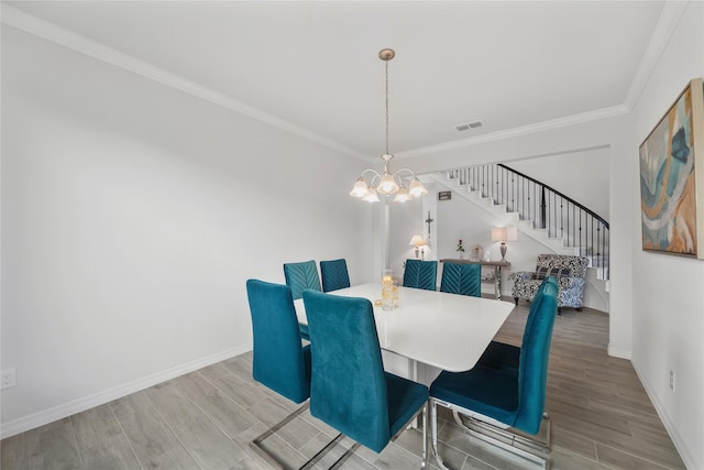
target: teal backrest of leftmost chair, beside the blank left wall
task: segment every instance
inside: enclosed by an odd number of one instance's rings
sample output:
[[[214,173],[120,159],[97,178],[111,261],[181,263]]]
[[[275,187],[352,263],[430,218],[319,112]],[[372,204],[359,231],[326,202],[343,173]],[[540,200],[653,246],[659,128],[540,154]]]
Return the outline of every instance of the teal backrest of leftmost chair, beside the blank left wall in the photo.
[[[301,347],[290,288],[248,280],[246,294],[254,337],[254,380],[293,402],[306,401],[310,397],[310,362],[305,360],[307,350]]]

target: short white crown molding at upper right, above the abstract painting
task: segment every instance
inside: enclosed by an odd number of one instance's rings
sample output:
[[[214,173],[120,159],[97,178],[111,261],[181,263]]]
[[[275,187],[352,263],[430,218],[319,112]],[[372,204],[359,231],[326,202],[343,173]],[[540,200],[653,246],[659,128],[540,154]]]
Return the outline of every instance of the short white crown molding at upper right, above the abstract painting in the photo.
[[[662,7],[658,24],[652,32],[648,47],[646,47],[646,52],[640,61],[640,66],[636,72],[636,77],[631,81],[630,88],[626,94],[626,99],[624,100],[624,105],[628,110],[631,110],[634,106],[636,106],[636,101],[646,88],[660,56],[662,55],[662,51],[664,51],[664,47],[668,45],[670,36],[672,36],[672,33],[680,22],[682,14],[684,14],[684,10],[686,10],[688,4],[689,2],[686,1],[667,1],[664,7]]]

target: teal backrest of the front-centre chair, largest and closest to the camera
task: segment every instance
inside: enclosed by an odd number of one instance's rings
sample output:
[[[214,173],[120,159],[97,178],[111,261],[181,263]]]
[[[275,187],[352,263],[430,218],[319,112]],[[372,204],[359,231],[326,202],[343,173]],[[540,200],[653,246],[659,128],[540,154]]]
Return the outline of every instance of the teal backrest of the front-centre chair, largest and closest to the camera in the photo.
[[[366,298],[304,293],[310,328],[310,414],[380,451],[391,440],[384,364]]]

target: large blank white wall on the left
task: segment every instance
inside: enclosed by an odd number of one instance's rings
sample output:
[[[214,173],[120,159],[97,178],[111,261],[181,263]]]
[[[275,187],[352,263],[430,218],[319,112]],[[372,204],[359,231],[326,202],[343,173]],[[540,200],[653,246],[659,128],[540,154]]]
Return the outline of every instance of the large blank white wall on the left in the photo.
[[[3,437],[251,349],[284,262],[371,280],[363,162],[6,25],[2,138]]]

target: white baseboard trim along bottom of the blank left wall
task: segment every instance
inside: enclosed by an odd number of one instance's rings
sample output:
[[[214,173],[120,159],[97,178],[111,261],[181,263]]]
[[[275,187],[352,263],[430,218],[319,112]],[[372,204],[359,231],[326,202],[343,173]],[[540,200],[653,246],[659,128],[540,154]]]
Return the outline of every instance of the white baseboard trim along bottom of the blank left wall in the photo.
[[[186,362],[170,369],[156,372],[145,378],[125,383],[123,385],[118,385],[116,387],[86,396],[84,398],[74,400],[72,402],[54,406],[43,412],[13,419],[9,423],[2,423],[2,425],[0,425],[0,439],[4,439],[6,437],[11,437],[20,433],[24,433],[25,430],[44,426],[45,424],[53,423],[57,419],[63,419],[67,416],[85,412],[86,409],[90,409],[96,406],[105,405],[106,403],[112,402],[113,400],[121,398],[141,390],[148,389],[150,386],[154,386],[157,383],[162,383],[164,381],[175,379],[179,375],[197,371],[198,369],[212,365],[217,362],[233,358],[235,356],[240,356],[251,350],[252,343],[246,343],[238,348],[226,349],[224,351],[211,356],[206,356],[205,358],[200,358],[195,361]]]

